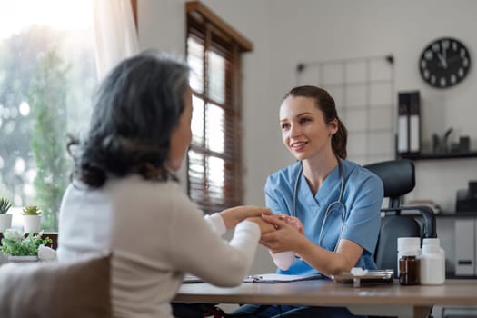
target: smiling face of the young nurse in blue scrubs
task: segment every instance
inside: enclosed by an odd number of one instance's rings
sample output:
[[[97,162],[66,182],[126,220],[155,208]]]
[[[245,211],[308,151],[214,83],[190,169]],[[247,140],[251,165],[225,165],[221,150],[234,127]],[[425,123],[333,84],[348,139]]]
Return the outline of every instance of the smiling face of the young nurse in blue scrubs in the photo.
[[[288,96],[280,107],[283,144],[298,160],[333,152],[331,137],[338,124],[336,120],[326,124],[315,103],[313,98]]]

